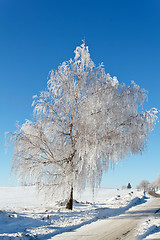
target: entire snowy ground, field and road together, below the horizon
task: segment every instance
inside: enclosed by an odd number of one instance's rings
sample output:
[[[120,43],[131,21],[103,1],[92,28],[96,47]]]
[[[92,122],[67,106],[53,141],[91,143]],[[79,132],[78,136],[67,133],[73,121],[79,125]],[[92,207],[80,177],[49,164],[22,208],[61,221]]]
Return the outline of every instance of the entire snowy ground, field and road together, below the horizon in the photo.
[[[35,187],[0,188],[0,239],[160,240],[160,198],[136,190],[89,189],[65,201],[36,198]],[[64,205],[63,205],[64,203]],[[156,213],[155,213],[156,212]]]

